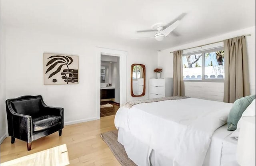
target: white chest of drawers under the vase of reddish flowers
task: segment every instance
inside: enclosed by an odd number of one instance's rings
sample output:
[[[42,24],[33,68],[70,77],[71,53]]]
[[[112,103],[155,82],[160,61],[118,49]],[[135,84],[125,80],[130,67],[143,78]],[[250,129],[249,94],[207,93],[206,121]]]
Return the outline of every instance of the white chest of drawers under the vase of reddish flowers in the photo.
[[[150,78],[149,98],[170,97],[173,95],[172,87],[172,78]]]

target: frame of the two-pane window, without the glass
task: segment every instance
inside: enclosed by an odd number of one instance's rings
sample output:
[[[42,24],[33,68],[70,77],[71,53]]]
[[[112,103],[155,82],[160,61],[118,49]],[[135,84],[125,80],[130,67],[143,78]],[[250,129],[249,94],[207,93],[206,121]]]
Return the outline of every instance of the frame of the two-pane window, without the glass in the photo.
[[[188,55],[195,55],[195,54],[200,54],[202,53],[202,79],[201,80],[183,80],[184,82],[214,82],[214,83],[224,83],[225,81],[225,77],[223,79],[204,79],[204,54],[205,53],[210,53],[210,52],[216,52],[216,51],[221,51],[221,50],[224,50],[224,47],[216,47],[216,48],[211,48],[211,49],[205,49],[205,50],[202,50],[202,51],[195,51],[195,52],[190,52],[190,53],[185,53],[185,54],[182,54],[182,57],[186,57]],[[224,55],[225,55],[225,52],[224,52]],[[224,64],[224,67],[225,67],[225,64]],[[224,68],[225,70],[225,68]],[[182,63],[182,71],[183,71],[183,63]],[[183,72],[182,72],[183,73]],[[183,77],[183,74],[182,74],[182,77]]]

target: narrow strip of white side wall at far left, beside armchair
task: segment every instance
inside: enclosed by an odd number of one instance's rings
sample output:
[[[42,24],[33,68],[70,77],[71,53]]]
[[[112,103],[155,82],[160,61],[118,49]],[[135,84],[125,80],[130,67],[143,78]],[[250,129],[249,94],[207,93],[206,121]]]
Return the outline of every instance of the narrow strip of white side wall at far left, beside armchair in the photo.
[[[5,100],[6,100],[6,93],[5,93],[5,88],[6,88],[6,69],[5,69],[5,46],[6,46],[6,42],[5,42],[5,28],[4,26],[2,26],[2,22],[0,23],[0,71],[1,71],[1,75],[0,75],[0,143],[2,143],[2,141],[4,140],[4,138],[6,137],[6,107],[5,107]]]

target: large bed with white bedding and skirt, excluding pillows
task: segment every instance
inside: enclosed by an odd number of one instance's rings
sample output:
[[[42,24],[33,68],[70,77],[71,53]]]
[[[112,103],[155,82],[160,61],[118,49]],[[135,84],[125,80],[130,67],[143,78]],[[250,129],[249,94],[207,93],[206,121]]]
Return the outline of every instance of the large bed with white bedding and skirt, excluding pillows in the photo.
[[[231,163],[234,157],[230,162],[224,152],[234,156],[226,147],[236,148],[236,142],[223,126],[231,107],[230,103],[194,98],[120,107],[115,117],[118,142],[139,166]]]

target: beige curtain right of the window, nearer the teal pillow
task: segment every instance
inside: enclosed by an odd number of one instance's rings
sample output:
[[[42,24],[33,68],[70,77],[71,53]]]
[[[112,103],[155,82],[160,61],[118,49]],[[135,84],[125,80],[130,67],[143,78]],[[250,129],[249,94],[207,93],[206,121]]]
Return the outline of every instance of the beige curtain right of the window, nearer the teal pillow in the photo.
[[[225,84],[224,102],[250,95],[248,57],[245,37],[224,40]]]

